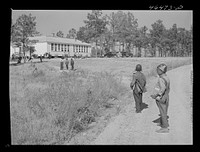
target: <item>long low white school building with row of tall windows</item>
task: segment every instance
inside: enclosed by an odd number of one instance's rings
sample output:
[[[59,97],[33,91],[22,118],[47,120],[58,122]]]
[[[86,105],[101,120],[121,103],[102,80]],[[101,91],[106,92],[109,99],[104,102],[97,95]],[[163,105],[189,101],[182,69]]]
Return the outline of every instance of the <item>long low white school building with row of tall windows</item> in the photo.
[[[36,40],[34,54],[44,55],[49,53],[51,56],[91,56],[91,44],[81,42],[76,39],[37,36],[29,37],[30,40]]]

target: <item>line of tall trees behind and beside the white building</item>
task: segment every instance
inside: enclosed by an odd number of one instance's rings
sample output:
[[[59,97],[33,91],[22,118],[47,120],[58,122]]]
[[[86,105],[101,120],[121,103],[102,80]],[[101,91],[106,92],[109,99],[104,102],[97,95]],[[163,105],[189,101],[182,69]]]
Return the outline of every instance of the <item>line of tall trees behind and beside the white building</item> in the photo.
[[[28,36],[39,35],[36,31],[36,17],[22,15],[11,27],[11,41],[27,46]],[[92,10],[87,14],[78,31],[71,28],[64,36],[58,31],[53,36],[78,39],[86,43],[94,43],[96,54],[116,52],[116,45],[122,48],[120,51],[130,53],[135,46],[138,48],[137,56],[141,56],[141,49],[145,49],[145,56],[191,56],[193,44],[193,27],[190,30],[177,27],[176,24],[167,29],[162,20],[151,24],[151,29],[146,26],[138,27],[138,20],[131,12],[112,12],[103,15],[101,10]],[[149,31],[149,32],[148,32]],[[33,43],[33,42],[32,42]]]

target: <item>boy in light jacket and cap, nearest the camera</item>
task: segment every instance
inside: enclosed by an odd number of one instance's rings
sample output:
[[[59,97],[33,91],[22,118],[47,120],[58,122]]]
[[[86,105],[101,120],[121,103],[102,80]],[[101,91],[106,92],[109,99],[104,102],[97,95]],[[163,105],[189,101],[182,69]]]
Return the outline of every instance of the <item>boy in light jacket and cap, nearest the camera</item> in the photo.
[[[160,119],[158,125],[161,129],[157,130],[157,133],[168,133],[169,124],[167,120],[167,111],[169,106],[169,91],[170,91],[170,80],[167,77],[167,66],[160,64],[157,67],[158,82],[156,84],[155,93],[151,95],[156,100],[156,104],[160,111]]]

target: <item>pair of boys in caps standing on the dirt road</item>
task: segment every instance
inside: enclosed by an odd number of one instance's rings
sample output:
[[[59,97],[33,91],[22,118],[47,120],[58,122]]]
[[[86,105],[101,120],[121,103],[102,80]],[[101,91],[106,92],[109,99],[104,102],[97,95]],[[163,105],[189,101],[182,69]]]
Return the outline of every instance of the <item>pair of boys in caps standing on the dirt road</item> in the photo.
[[[169,91],[170,91],[170,80],[167,77],[167,66],[165,64],[160,64],[157,66],[158,81],[155,85],[155,89],[151,97],[155,99],[156,105],[159,109],[159,119],[158,126],[161,128],[156,130],[157,133],[168,133],[169,123],[168,123],[168,106],[169,106]],[[147,92],[146,90],[146,78],[141,72],[142,66],[140,64],[136,65],[135,72],[133,73],[133,79],[130,83],[130,87],[133,90],[133,97],[135,99],[136,113],[141,113],[142,111],[142,94]]]

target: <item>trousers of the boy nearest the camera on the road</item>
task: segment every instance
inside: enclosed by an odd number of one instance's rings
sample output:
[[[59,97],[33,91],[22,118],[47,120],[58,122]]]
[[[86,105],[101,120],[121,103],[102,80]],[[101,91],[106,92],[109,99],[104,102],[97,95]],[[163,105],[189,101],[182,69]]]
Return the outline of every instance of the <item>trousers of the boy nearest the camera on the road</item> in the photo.
[[[169,127],[169,123],[167,120],[167,111],[169,107],[169,96],[166,98],[165,103],[161,103],[156,100],[156,104],[158,106],[159,112],[160,112],[160,124],[162,128]]]

